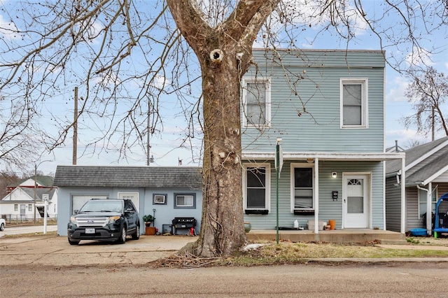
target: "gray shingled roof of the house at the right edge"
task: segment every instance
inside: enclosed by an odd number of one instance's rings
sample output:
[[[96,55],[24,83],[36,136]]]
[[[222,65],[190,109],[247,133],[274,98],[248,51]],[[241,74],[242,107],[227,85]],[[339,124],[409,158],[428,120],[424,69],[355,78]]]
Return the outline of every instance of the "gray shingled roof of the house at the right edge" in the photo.
[[[406,166],[425,155],[430,150],[448,141],[448,136],[405,150]],[[406,171],[406,183],[419,183],[426,180],[448,165],[448,145],[444,146],[433,155],[430,155]],[[386,173],[395,173],[401,168],[401,160],[390,160],[386,162]]]

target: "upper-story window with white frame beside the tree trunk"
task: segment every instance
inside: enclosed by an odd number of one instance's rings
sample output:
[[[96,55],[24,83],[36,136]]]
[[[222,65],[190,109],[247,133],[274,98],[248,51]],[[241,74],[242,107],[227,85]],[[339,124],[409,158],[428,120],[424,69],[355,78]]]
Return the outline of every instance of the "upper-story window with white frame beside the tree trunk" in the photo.
[[[270,122],[271,83],[269,79],[244,79],[243,126],[269,127]]]

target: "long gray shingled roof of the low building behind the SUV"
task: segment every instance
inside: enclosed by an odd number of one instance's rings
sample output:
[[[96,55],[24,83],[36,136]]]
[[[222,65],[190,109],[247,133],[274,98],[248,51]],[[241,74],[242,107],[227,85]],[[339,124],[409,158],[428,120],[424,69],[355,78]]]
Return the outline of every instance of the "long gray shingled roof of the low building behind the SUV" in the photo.
[[[57,166],[57,187],[189,187],[202,189],[202,168],[191,166]]]

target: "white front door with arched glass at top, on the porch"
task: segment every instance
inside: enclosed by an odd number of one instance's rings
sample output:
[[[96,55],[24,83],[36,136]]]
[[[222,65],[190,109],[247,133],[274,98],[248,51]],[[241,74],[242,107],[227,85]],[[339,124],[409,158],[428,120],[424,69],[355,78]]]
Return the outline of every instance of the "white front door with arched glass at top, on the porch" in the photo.
[[[344,176],[344,227],[367,228],[369,225],[369,179],[367,175]]]

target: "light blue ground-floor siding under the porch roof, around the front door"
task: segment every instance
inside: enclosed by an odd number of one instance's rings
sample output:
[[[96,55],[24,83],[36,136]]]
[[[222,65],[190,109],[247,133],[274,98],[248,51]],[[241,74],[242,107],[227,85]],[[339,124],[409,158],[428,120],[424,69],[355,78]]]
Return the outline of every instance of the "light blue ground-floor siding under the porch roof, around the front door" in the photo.
[[[279,178],[279,227],[293,227],[294,220],[300,227],[307,227],[307,220],[314,220],[314,215],[294,215],[291,213],[290,200],[290,164],[297,161],[285,161]],[[303,162],[303,161],[301,161]],[[336,220],[336,228],[342,225],[343,185],[342,173],[372,173],[372,200],[369,203],[372,228],[384,229],[384,180],[383,162],[319,162],[319,220],[328,222]],[[251,222],[253,229],[275,229],[276,227],[276,173],[271,164],[271,206],[268,215],[244,215],[244,220]],[[337,171],[337,178],[331,173]],[[332,191],[339,192],[337,201],[332,200]]]

